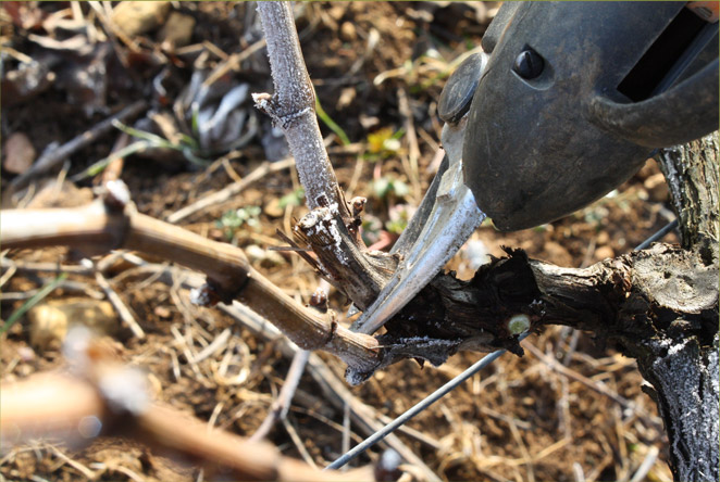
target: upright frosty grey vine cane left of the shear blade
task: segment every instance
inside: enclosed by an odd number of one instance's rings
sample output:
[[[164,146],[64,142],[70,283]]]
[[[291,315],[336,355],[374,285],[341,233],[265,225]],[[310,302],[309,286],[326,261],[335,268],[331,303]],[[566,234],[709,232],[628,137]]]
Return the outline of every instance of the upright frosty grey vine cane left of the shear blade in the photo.
[[[364,309],[389,279],[397,258],[369,252],[358,236],[356,211],[361,210],[355,202],[348,205],[325,151],[290,2],[258,2],[258,11],[275,91],[253,94],[256,106],[283,129],[311,210],[295,234],[318,254],[319,262],[310,262],[318,272]]]

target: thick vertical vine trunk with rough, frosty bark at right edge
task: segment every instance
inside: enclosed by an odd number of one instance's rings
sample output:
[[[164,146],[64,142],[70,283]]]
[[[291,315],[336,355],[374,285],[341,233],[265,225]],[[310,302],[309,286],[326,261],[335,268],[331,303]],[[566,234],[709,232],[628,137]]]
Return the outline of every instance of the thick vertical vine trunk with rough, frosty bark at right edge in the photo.
[[[670,439],[670,468],[675,480],[719,480],[720,443],[718,386],[718,132],[681,148],[660,153],[660,166],[680,218],[683,248],[697,264],[686,274],[712,268],[707,288],[715,290],[715,308],[707,330],[697,332],[696,312],[679,306],[670,325],[646,342],[647,353],[637,357]],[[699,308],[704,286],[678,287],[695,293],[690,307]],[[681,289],[683,288],[683,289]],[[699,288],[699,289],[698,289]],[[702,322],[700,322],[702,325]],[[712,338],[708,338],[712,333]]]

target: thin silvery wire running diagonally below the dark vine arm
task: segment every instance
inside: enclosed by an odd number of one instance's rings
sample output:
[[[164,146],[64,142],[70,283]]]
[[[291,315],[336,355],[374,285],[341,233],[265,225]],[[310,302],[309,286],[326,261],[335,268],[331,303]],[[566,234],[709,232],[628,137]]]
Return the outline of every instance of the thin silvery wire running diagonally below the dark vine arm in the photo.
[[[527,332],[522,333],[519,338],[518,341],[522,341],[527,337]],[[423,401],[419,402],[415,404],[412,408],[410,408],[408,411],[405,414],[400,415],[398,418],[383,427],[381,430],[377,432],[373,433],[370,435],[368,439],[356,445],[352,449],[350,449],[348,453],[339,457],[337,460],[335,460],[333,464],[327,466],[325,469],[339,469],[343,467],[345,464],[349,462],[352,460],[355,457],[358,455],[362,454],[365,452],[368,448],[372,447],[375,445],[377,442],[381,440],[385,439],[387,435],[389,435],[395,429],[410,420],[412,417],[415,415],[420,414],[422,410],[440,399],[443,396],[451,392],[454,389],[456,389],[460,383],[463,381],[468,380],[470,377],[495,362],[497,358],[500,357],[506,352],[506,350],[498,350],[496,352],[491,353],[489,355],[484,356],[480,360],[475,362],[474,365],[472,365],[470,368],[468,368],[465,371],[462,373],[458,375],[455,377],[452,380],[449,382],[445,383],[443,386],[431,393],[427,397],[425,397]]]

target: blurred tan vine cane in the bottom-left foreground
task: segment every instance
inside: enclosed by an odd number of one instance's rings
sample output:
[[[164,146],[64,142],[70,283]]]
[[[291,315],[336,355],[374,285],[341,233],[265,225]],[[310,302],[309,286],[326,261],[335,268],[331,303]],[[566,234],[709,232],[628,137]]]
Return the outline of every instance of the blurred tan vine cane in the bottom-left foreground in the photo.
[[[190,457],[206,477],[266,481],[373,480],[371,468],[320,471],[207,422],[150,401],[145,375],[113,359],[111,348],[84,329],[69,333],[65,354],[74,376],[37,375],[2,384],[3,446],[37,436],[62,436],[85,445],[98,435],[120,435]],[[70,353],[69,353],[70,352]],[[52,403],[48,403],[52,401]]]

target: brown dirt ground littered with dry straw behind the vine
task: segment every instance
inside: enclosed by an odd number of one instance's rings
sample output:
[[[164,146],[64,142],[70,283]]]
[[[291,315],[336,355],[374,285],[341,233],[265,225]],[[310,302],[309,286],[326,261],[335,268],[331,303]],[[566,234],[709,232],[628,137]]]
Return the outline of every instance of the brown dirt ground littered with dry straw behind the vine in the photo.
[[[207,109],[216,113],[220,99],[233,88],[272,90],[264,51],[248,53],[262,37],[250,3],[159,2],[166,10],[146,14],[139,31],[132,30],[132,20],[117,15],[117,2],[92,3],[0,5],[2,208],[80,205],[108,173],[115,173],[128,185],[141,213],[169,219],[250,175],[265,160],[286,155],[282,139],[269,134],[269,120],[253,110],[249,98],[235,106],[243,118],[221,118],[226,131],[202,134],[194,127]],[[389,249],[432,180],[442,128],[436,105],[445,78],[455,59],[480,45],[498,5],[296,5],[320,104],[338,126],[321,123],[332,162],[348,199],[369,199],[364,236],[378,249]],[[173,28],[165,28],[171,22]],[[181,27],[183,22],[186,27]],[[228,62],[238,55],[239,65]],[[224,75],[223,65],[228,66]],[[213,74],[220,77],[207,83],[204,98],[202,92],[188,92],[194,75],[207,81]],[[140,99],[147,109],[124,124],[161,136],[170,148],[145,135],[151,140],[144,152],[126,156],[122,165],[111,163],[111,170],[78,178],[113,145],[122,147],[125,135],[112,128],[34,177],[28,187],[11,188],[17,173],[51,142],[65,143]],[[24,140],[11,143],[18,134]],[[231,145],[245,134],[247,143]],[[15,145],[23,142],[24,151]],[[626,253],[673,218],[663,187],[649,161],[617,191],[566,219],[513,233],[484,224],[449,267],[469,277],[473,263],[482,262],[485,253],[501,255],[502,245],[575,267]],[[306,212],[298,188],[291,168],[277,169],[177,224],[246,249],[257,269],[307,302],[319,283],[312,269],[291,253],[268,250],[284,244],[275,230],[289,232],[291,219]],[[676,242],[675,234],[666,241]],[[3,251],[2,256],[3,324],[55,278],[39,264],[82,266],[85,257],[65,248]],[[167,271],[170,265],[161,259],[146,261],[161,268],[152,272],[115,263],[105,271],[112,290],[146,333],[138,339],[123,324],[112,332],[122,359],[146,370],[159,401],[250,436],[277,396],[290,360],[276,340],[253,335],[219,308],[191,305],[182,282],[185,271]],[[173,274],[170,284],[161,276],[166,272]],[[70,274],[42,303],[78,297],[99,303],[105,294],[94,276]],[[347,308],[337,293],[331,292],[331,303],[338,313]],[[188,353],[201,352],[225,330],[232,334],[220,350],[201,362],[188,362]],[[64,366],[57,344],[32,344],[32,337],[27,316],[2,334],[3,383]],[[411,420],[408,426],[422,436],[398,432],[400,440],[446,480],[671,479],[667,437],[655,404],[641,390],[643,380],[632,359],[604,340],[559,327],[523,345],[522,358],[502,356]],[[462,353],[440,368],[400,363],[350,390],[377,414],[393,418],[481,356]],[[342,377],[339,360],[321,357]],[[276,424],[269,435],[283,454],[319,467],[342,454],[344,410],[323,399],[310,373],[301,379],[287,422]],[[350,431],[352,444],[367,436],[357,427]],[[353,465],[376,460],[378,453],[373,449]],[[3,480],[203,479],[201,471],[173,454],[115,437],[101,436],[86,447],[57,440],[3,444],[0,457]],[[644,461],[650,469],[634,478]]]

